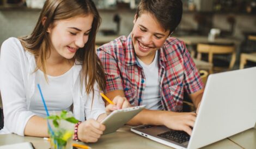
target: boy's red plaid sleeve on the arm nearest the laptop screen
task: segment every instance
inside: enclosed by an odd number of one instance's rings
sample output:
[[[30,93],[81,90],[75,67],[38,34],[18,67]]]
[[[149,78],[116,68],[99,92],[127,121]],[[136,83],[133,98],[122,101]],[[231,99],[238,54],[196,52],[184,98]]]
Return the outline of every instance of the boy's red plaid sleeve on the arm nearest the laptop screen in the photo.
[[[200,73],[196,68],[196,64],[194,64],[193,59],[190,56],[184,42],[184,74],[185,74],[185,89],[188,94],[192,94],[194,92],[199,91],[200,89],[204,88],[204,84],[202,79],[200,78]]]

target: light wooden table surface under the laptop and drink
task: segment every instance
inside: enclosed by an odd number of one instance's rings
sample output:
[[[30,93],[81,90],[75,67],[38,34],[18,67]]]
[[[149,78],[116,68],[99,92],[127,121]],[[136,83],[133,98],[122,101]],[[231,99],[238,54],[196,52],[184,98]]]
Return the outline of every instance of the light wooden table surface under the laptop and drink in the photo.
[[[94,144],[87,144],[92,148],[171,148],[150,139],[144,138],[143,136],[137,135],[130,131],[130,126],[123,126],[118,129],[117,132],[102,135],[101,139]],[[234,141],[234,142],[233,142]],[[31,137],[31,136],[19,136],[16,134],[2,134],[0,135],[0,146],[15,144],[20,142],[32,142],[35,148],[49,148],[50,143],[42,138]],[[75,141],[74,141],[75,142]],[[203,148],[227,148],[227,149],[241,149],[245,148],[256,148],[256,129],[252,128],[248,131],[236,134],[230,138],[223,139],[210,144]],[[84,144],[83,142],[76,142],[78,144]],[[241,147],[242,146],[242,147]]]

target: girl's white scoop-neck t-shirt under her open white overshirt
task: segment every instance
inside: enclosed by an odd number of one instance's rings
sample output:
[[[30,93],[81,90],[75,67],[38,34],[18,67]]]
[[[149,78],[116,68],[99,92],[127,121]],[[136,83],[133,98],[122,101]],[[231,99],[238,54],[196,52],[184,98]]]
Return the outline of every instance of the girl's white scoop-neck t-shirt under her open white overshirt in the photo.
[[[52,77],[47,75],[48,82],[46,82],[44,72],[37,70],[35,72],[35,83],[40,84],[40,87],[44,90],[44,100],[47,105],[48,112],[52,111],[70,111],[73,103],[72,95],[72,75],[73,67],[64,74]],[[40,96],[39,90],[35,90],[34,95],[31,98],[31,106],[29,107],[33,113],[38,116],[46,117],[44,104]]]

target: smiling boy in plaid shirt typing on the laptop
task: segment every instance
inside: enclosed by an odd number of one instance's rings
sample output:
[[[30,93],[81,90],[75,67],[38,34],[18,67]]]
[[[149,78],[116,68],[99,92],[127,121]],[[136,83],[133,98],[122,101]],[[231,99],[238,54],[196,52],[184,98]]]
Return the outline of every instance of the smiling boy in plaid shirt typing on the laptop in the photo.
[[[146,105],[129,125],[192,132],[196,113],[179,113],[184,89],[198,108],[204,87],[184,42],[170,37],[181,16],[180,0],[142,0],[131,34],[97,49],[106,73],[106,96]]]

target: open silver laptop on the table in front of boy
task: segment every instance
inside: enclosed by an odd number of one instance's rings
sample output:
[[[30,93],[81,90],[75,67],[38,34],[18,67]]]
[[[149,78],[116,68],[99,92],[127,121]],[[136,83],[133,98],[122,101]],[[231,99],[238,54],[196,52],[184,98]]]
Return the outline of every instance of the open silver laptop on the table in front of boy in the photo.
[[[143,125],[132,132],[174,148],[200,148],[254,127],[256,67],[210,74],[191,136],[165,126]]]

